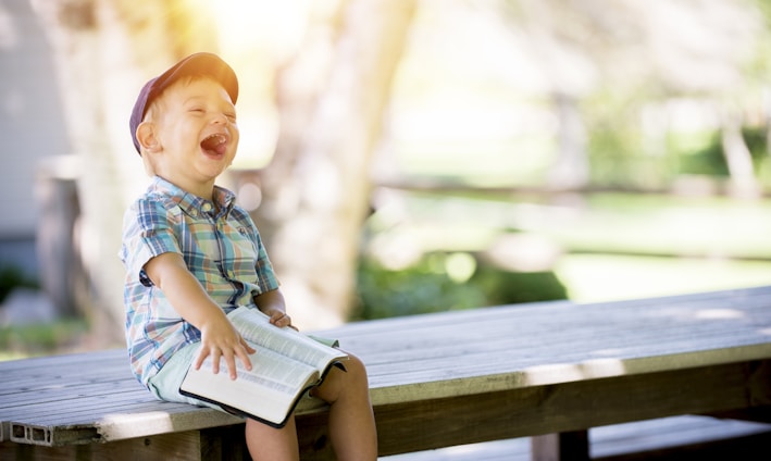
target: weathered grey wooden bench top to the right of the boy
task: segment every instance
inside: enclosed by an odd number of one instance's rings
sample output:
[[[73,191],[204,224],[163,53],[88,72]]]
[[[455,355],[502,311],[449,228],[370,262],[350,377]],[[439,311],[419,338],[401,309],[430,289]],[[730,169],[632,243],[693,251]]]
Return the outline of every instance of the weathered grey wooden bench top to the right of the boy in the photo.
[[[362,357],[387,403],[389,386],[430,396],[442,387],[457,395],[484,385],[494,390],[762,359],[771,351],[771,298],[768,289],[756,295],[737,295],[741,301],[716,296],[714,306],[706,308],[706,300],[687,297],[637,306],[494,308],[327,333]],[[734,306],[726,307],[729,300]],[[475,378],[478,383],[470,384]]]

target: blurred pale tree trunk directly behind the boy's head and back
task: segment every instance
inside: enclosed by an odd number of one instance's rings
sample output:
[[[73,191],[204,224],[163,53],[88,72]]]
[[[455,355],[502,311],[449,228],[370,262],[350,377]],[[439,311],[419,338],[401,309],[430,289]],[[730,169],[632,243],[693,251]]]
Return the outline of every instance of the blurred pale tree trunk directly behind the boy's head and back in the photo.
[[[181,30],[195,27],[184,1],[60,0],[34,7],[49,35],[71,146],[82,164],[75,246],[90,284],[74,296],[86,304],[79,309],[97,333],[92,346],[115,344],[123,341],[125,324],[125,271],[117,258],[123,212],[146,182],[128,116],[147,79],[213,40]]]

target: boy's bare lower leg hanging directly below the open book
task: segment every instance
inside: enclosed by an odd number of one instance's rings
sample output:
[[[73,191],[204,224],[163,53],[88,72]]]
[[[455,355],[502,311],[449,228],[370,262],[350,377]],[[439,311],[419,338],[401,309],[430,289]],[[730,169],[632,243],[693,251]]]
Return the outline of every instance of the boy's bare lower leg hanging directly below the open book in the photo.
[[[299,461],[295,416],[281,429],[247,419],[246,445],[253,461]]]

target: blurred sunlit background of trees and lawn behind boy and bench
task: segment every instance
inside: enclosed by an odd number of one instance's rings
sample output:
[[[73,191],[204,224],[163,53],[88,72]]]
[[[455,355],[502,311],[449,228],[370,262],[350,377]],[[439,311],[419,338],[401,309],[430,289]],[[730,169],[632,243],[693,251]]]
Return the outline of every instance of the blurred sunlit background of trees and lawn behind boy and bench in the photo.
[[[221,184],[304,329],[763,285],[764,0],[0,0],[0,359],[123,345],[139,88],[239,76]]]

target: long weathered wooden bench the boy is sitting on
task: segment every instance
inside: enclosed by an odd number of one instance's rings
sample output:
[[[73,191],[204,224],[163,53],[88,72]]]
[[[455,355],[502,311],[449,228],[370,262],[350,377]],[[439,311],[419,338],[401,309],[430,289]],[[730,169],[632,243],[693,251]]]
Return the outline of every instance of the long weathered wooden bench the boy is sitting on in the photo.
[[[587,429],[682,414],[771,422],[771,287],[518,304],[324,332],[368,365],[382,456],[533,437],[587,459]],[[326,409],[303,459],[333,459]],[[125,352],[0,363],[0,459],[239,459],[243,422],[154,401]]]

